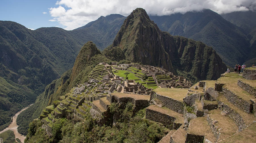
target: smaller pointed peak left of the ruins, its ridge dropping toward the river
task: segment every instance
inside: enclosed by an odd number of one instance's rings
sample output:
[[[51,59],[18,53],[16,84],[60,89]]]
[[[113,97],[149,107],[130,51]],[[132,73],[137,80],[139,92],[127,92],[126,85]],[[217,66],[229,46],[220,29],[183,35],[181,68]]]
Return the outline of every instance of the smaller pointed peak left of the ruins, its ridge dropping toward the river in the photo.
[[[28,124],[34,118],[38,118],[42,109],[48,105],[52,105],[53,101],[65,95],[76,84],[87,81],[88,73],[99,62],[111,61],[104,57],[91,41],[84,44],[77,55],[73,68],[63,73],[61,78],[47,85],[45,91],[37,97],[34,105],[19,114],[17,118],[17,124],[19,125],[18,131],[26,135]]]

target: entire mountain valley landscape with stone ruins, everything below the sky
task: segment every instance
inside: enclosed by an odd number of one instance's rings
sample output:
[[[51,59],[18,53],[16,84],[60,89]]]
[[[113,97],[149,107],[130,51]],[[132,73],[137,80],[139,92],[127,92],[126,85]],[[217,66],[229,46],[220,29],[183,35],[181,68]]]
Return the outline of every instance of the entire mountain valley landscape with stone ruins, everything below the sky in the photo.
[[[256,70],[223,74],[255,64],[256,14],[234,13],[148,16],[136,8],[71,31],[0,21],[0,134],[14,130],[21,142],[256,142]]]

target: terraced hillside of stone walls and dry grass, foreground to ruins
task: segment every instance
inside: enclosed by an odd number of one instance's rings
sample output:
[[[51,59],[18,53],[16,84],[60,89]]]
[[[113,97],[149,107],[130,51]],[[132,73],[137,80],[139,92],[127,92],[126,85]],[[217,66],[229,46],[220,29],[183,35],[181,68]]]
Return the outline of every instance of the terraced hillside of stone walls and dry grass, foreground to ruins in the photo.
[[[256,81],[244,79],[237,73],[226,73],[216,81],[200,81],[191,88],[158,87],[147,89],[143,94],[141,90],[130,92],[125,88],[130,84],[135,89],[135,85],[142,84],[120,78],[107,70],[111,67],[104,63],[97,65],[90,74],[94,77],[96,73],[97,77],[77,85],[59,97],[54,105],[46,107],[40,115],[43,125],[39,128],[43,127],[47,135],[53,136],[54,122],[61,118],[83,123],[89,120],[89,116],[102,129],[110,128],[106,125],[120,127],[120,118],[126,122],[129,119],[127,113],[120,114],[116,109],[125,111],[130,104],[131,116],[144,111],[143,120],[156,123],[155,127],[165,131],[153,142],[256,142]],[[118,67],[121,68],[115,66]],[[111,74],[98,78],[105,70]],[[143,68],[140,71],[134,67],[124,71],[132,70],[145,72]],[[254,71],[245,69],[244,74],[248,75],[248,70]],[[132,72],[130,74],[137,75]],[[149,77],[152,78],[147,80],[152,82],[150,79],[155,80],[157,76],[151,74]],[[161,76],[163,79],[171,77]],[[133,120],[138,120],[138,117]]]

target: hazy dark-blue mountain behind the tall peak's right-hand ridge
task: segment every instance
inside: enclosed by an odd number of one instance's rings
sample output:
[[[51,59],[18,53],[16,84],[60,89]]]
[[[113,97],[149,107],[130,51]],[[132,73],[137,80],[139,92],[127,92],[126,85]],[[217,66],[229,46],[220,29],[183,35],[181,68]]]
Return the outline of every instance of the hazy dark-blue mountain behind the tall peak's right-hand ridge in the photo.
[[[242,64],[250,53],[249,39],[240,27],[212,10],[150,16],[162,31],[211,46],[229,66]]]

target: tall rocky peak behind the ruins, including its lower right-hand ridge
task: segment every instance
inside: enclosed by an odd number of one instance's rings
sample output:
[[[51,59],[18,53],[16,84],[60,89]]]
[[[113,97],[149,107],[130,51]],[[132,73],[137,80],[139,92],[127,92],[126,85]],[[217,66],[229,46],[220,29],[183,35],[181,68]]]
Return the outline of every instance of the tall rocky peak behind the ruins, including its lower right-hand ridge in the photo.
[[[221,58],[209,46],[159,30],[142,8],[124,21],[112,45],[104,49],[112,60],[131,60],[178,72],[194,81],[217,79],[226,70]]]

